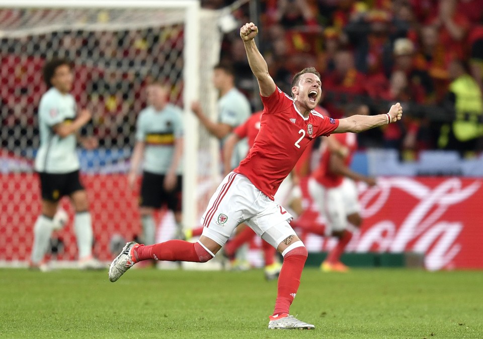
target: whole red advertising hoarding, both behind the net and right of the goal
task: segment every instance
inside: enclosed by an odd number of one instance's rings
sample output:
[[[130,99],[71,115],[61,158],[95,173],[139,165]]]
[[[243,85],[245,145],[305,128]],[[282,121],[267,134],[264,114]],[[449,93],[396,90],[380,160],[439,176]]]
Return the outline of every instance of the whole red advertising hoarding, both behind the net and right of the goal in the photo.
[[[140,234],[137,194],[126,176],[83,175],[89,195],[95,236],[95,255],[112,260],[110,242],[118,234],[126,240]],[[347,250],[350,252],[419,252],[428,270],[483,269],[483,179],[459,177],[378,178],[377,186],[359,185],[364,222]],[[311,203],[306,179],[301,182],[306,211],[299,223],[324,223]],[[26,262],[32,245],[32,228],[40,213],[40,189],[34,174],[0,176],[0,262]],[[69,222],[54,232],[64,243],[57,260],[76,259],[73,211],[67,200],[61,206]],[[200,207],[203,212],[202,207]],[[164,220],[164,219],[163,219]],[[171,236],[173,225],[162,221],[158,240]],[[297,230],[299,232],[299,230]],[[300,231],[303,232],[303,231]],[[166,233],[166,237],[163,234]],[[332,238],[300,234],[309,251],[327,251]],[[259,242],[255,242],[258,244]]]

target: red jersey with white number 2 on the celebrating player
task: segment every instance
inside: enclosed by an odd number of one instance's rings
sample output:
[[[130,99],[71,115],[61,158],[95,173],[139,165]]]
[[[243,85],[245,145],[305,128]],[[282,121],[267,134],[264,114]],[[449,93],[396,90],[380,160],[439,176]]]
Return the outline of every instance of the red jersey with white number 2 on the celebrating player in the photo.
[[[246,176],[273,200],[307,145],[318,136],[330,135],[339,126],[339,120],[315,110],[304,118],[293,99],[279,88],[269,97],[262,97],[262,102],[264,109],[255,143],[233,171]]]

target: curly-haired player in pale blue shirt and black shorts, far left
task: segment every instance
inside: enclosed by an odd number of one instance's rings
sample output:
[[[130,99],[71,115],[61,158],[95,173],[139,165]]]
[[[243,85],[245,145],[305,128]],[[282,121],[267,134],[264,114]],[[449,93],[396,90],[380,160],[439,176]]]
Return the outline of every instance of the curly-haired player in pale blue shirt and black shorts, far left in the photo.
[[[34,226],[30,266],[45,269],[42,261],[54,228],[52,219],[60,198],[69,196],[75,209],[74,231],[79,268],[103,268],[92,257],[91,214],[86,190],[79,181],[79,159],[75,151],[77,132],[91,120],[91,113],[81,110],[76,114],[74,98],[69,94],[73,76],[67,60],[47,62],[44,66],[44,80],[49,90],[40,100],[40,148],[35,158],[35,171],[39,173],[42,191],[42,214]],[[83,138],[81,141],[85,148],[97,147],[94,138]]]

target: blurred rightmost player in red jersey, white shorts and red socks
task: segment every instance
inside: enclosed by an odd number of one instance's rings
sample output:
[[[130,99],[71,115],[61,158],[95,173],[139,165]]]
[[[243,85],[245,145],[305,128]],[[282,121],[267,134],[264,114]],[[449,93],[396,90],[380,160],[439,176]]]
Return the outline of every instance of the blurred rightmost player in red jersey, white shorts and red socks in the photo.
[[[339,239],[320,269],[324,272],[347,272],[340,262],[345,247],[352,238],[348,225],[360,227],[362,217],[354,181],[374,186],[374,178],[352,171],[349,165],[357,150],[357,136],[341,133],[329,136],[321,144],[320,164],[308,182],[308,191],[320,213],[326,216],[327,236]]]

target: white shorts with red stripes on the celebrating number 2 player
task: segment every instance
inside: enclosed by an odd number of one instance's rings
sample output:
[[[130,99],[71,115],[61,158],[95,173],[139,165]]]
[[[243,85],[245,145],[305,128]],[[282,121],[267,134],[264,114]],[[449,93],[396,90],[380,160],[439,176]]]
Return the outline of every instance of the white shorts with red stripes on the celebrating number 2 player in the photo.
[[[231,172],[221,182],[201,217],[203,235],[223,246],[238,224],[245,222],[275,248],[295,235],[292,215],[270,200],[244,175]]]

